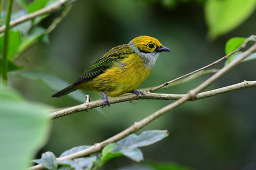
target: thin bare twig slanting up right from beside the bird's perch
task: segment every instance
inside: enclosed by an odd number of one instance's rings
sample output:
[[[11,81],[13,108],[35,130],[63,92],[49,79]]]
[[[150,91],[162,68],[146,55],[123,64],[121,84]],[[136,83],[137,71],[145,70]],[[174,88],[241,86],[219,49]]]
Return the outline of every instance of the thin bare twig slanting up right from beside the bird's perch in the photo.
[[[234,50],[234,52],[232,52],[232,53],[226,55],[225,57],[222,57],[222,58],[218,59],[217,61],[214,61],[213,63],[210,63],[209,65],[207,65],[207,66],[205,66],[205,67],[202,67],[201,69],[192,71],[191,73],[185,74],[185,75],[183,75],[183,76],[180,76],[179,78],[176,78],[176,79],[171,80],[170,82],[166,82],[166,83],[164,83],[164,84],[162,84],[162,85],[160,85],[160,86],[158,86],[158,87],[155,87],[155,88],[151,89],[150,92],[154,92],[154,91],[156,91],[156,90],[159,90],[160,88],[163,88],[164,86],[167,86],[168,84],[170,84],[170,83],[172,83],[172,82],[175,82],[176,80],[182,79],[182,78],[184,78],[185,76],[188,76],[188,75],[194,74],[194,73],[196,73],[196,72],[199,72],[199,71],[201,71],[201,70],[207,69],[208,67],[215,65],[216,63],[222,61],[223,59],[228,58],[229,56],[231,56],[232,54],[238,52],[238,51],[241,50],[242,48],[245,48],[245,46],[246,46],[246,45],[243,44],[243,45],[240,46],[240,48],[238,48],[237,50]]]

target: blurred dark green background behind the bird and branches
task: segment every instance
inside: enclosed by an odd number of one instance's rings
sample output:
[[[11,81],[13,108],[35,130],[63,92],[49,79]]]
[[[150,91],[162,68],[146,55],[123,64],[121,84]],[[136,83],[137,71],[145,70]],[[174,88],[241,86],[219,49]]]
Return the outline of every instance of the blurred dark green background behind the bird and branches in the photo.
[[[73,83],[88,66],[114,46],[148,35],[172,50],[160,54],[151,75],[139,88],[158,86],[225,56],[225,43],[230,38],[255,34],[256,12],[232,32],[209,41],[203,3],[76,1],[71,12],[49,35],[50,43],[39,42],[32,46],[16,63],[26,65],[26,71],[42,71]],[[58,15],[50,16],[42,25],[47,27]],[[255,80],[255,65],[255,60],[241,63],[207,90]],[[221,62],[213,67],[220,69],[223,66],[224,62]],[[185,94],[209,76],[156,92]],[[53,99],[51,95],[56,91],[40,82],[20,78],[10,78],[10,82],[28,100],[56,108],[80,104],[69,96]],[[94,92],[86,94],[92,100],[101,98]],[[192,169],[256,169],[255,95],[255,88],[250,88],[189,101],[138,131],[137,134],[153,129],[170,132],[163,141],[142,148],[145,162],[115,158],[101,169],[118,169],[146,162],[176,163]],[[104,141],[172,102],[138,100],[133,104],[112,104],[102,109],[105,116],[92,109],[57,118],[53,120],[49,142],[39,157],[46,151],[59,156],[69,148]]]

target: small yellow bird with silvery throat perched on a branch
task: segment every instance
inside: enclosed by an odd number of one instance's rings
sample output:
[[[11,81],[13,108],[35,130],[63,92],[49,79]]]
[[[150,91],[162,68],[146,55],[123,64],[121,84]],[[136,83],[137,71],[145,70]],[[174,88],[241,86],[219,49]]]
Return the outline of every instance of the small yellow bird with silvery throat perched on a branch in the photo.
[[[119,96],[127,92],[139,96],[145,94],[136,88],[150,75],[161,52],[171,52],[157,39],[138,36],[128,44],[118,45],[94,62],[71,86],[52,95],[62,97],[76,90],[100,92],[103,107],[110,106],[107,96]]]

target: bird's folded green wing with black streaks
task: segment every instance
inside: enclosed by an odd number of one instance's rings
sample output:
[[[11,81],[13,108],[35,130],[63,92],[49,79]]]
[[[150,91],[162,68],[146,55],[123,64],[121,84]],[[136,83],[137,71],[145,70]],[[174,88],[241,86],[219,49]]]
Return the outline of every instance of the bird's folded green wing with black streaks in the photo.
[[[133,50],[131,50],[127,44],[112,48],[102,58],[98,59],[98,61],[86,69],[84,74],[73,84],[78,84],[84,82],[85,80],[93,79],[97,75],[104,73],[104,71],[113,66],[115,62],[119,62],[122,59],[129,57],[129,54],[132,53],[134,53]]]

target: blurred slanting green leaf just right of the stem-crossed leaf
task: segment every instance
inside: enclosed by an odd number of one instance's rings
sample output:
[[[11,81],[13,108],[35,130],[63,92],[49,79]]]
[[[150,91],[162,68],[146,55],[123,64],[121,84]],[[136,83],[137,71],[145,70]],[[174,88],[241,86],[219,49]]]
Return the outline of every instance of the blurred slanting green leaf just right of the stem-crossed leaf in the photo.
[[[26,36],[23,37],[22,43],[18,48],[18,55],[23,52],[23,50],[27,49],[29,45],[31,45],[36,40],[39,40],[44,35],[46,35],[46,29],[43,27],[35,27],[33,28]]]

